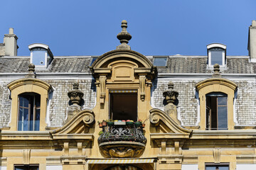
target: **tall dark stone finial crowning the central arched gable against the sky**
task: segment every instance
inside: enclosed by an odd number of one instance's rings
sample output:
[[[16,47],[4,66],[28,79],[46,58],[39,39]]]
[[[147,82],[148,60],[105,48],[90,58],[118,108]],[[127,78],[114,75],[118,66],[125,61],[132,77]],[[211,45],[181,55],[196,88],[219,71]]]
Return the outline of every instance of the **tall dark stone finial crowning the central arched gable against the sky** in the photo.
[[[117,34],[117,39],[120,40],[121,45],[117,46],[117,50],[124,49],[124,50],[131,50],[131,47],[128,44],[129,40],[132,39],[132,35],[127,32],[127,21],[122,21],[122,31],[121,33]]]

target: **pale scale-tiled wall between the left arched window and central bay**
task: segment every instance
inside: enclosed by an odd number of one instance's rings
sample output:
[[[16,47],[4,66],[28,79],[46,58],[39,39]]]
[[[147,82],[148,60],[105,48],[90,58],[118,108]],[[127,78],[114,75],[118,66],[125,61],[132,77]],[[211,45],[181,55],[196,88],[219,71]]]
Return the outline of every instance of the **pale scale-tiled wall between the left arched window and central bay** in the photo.
[[[77,80],[48,80],[55,91],[50,101],[50,126],[61,126],[67,115],[68,91],[73,89],[73,83]],[[86,79],[79,81],[79,89],[84,93],[84,105],[82,108],[92,109],[95,106],[96,89],[94,80]]]

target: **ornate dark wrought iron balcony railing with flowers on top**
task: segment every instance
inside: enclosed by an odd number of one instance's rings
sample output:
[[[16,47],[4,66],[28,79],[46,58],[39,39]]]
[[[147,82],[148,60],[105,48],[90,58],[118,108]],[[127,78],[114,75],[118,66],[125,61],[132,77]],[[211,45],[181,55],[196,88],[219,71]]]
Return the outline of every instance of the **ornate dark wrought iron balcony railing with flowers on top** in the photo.
[[[102,134],[98,138],[99,144],[103,142],[129,141],[146,144],[142,124],[113,123],[102,127]]]

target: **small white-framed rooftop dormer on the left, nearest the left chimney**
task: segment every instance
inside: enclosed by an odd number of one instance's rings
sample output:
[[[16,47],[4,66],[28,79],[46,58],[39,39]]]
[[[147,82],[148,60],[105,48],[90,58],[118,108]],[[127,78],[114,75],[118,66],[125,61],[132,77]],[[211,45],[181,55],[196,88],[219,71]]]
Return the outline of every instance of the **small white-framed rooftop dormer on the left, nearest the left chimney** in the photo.
[[[31,50],[31,63],[35,64],[36,68],[47,68],[50,62],[53,61],[53,53],[48,45],[36,43],[28,45]]]

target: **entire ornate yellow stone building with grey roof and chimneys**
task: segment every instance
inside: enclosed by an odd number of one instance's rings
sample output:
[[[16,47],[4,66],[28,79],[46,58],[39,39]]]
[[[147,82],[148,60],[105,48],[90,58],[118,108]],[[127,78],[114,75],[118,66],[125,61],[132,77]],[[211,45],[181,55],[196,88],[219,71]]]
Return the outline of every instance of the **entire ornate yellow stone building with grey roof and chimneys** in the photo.
[[[256,21],[248,56],[54,56],[0,44],[0,169],[256,169]]]

